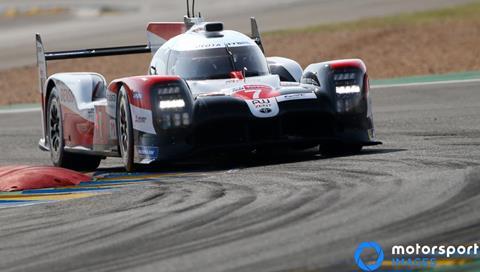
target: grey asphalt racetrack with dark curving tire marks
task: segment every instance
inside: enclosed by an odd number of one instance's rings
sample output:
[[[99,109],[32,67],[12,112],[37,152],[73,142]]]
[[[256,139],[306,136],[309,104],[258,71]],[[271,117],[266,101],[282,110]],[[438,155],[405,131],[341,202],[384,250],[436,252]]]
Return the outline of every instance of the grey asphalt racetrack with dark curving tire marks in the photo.
[[[384,145],[358,156],[187,164],[168,169],[184,176],[0,209],[0,270],[348,271],[362,241],[478,242],[479,88],[372,90]],[[0,116],[1,164],[47,163],[35,115]]]

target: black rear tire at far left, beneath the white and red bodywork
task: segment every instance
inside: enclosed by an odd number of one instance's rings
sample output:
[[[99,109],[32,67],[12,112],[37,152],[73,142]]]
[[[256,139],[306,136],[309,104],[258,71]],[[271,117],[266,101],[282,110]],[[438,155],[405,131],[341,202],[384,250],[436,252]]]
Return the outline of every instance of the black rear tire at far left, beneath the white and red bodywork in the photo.
[[[50,158],[54,166],[77,171],[93,171],[100,165],[102,157],[65,151],[62,108],[58,91],[55,87],[48,98],[47,139],[50,147]]]

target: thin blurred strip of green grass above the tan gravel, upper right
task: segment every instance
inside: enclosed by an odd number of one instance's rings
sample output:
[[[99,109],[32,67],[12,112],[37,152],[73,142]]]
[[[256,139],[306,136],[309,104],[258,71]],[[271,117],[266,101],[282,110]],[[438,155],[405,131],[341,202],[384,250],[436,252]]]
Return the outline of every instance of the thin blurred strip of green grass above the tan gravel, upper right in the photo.
[[[480,1],[469,4],[463,4],[455,7],[405,13],[401,15],[375,17],[362,19],[353,22],[343,22],[334,24],[323,24],[305,28],[280,30],[266,32],[265,36],[270,35],[291,35],[295,33],[315,33],[315,32],[333,32],[333,31],[354,31],[367,28],[380,27],[405,27],[409,25],[428,24],[432,22],[446,20],[479,20],[480,19]]]

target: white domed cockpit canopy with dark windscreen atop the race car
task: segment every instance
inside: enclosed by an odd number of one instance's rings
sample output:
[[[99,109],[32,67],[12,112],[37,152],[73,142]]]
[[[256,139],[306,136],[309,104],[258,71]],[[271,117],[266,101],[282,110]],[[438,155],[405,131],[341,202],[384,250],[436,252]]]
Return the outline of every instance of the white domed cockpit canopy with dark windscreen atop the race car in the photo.
[[[260,47],[248,36],[231,30],[195,25],[163,44],[151,63],[151,74],[178,75],[186,80],[230,78],[232,72],[246,77],[270,74]],[[236,73],[238,74],[238,73]]]

